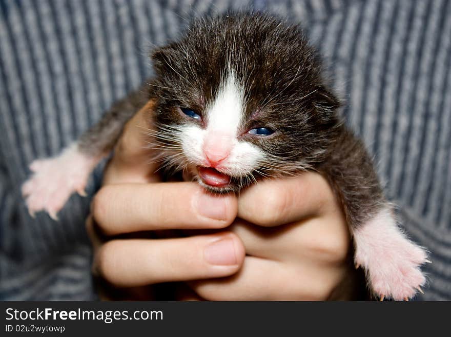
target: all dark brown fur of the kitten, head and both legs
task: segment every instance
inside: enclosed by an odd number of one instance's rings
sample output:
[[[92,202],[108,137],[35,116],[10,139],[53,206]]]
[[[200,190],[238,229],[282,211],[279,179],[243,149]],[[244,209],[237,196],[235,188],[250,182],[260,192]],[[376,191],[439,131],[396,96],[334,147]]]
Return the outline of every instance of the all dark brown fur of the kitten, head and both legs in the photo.
[[[156,49],[152,60],[156,76],[113,105],[81,137],[82,151],[109,151],[125,122],[151,97],[158,102],[157,128],[186,123],[178,107],[204,113],[224,69],[232,64],[246,84],[247,122],[242,129],[263,125],[277,130],[270,137],[248,140],[279,162],[279,169],[268,165],[259,171],[274,176],[318,170],[339,196],[352,228],[385,204],[372,160],[342,124],[320,58],[299,26],[261,14],[199,20],[178,41]],[[245,187],[242,182],[233,181],[237,190]]]

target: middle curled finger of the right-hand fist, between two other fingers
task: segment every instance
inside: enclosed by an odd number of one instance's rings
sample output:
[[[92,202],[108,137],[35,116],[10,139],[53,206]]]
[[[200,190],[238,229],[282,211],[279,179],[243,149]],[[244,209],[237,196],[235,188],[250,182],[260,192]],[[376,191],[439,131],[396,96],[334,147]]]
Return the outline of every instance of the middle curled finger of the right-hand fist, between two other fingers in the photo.
[[[271,228],[238,219],[229,229],[240,237],[247,254],[277,261],[341,265],[351,246],[342,215],[311,217]]]

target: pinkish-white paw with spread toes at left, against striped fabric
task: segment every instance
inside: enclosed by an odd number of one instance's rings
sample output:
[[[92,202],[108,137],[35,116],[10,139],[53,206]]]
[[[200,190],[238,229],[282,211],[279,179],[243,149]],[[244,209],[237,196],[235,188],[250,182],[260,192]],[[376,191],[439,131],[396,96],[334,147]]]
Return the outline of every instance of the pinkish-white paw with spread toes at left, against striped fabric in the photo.
[[[97,162],[72,145],[56,157],[31,163],[33,175],[22,185],[30,215],[34,217],[35,212],[44,210],[58,220],[56,214],[73,192],[86,196],[86,183]]]

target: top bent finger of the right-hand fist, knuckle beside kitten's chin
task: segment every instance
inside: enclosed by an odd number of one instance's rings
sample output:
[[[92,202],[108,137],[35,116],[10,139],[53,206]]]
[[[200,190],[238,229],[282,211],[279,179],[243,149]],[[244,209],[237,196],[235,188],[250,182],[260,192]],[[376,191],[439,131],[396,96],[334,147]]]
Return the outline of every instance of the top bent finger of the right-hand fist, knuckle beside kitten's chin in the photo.
[[[238,216],[260,226],[277,226],[336,208],[334,193],[318,173],[263,180],[243,191]]]

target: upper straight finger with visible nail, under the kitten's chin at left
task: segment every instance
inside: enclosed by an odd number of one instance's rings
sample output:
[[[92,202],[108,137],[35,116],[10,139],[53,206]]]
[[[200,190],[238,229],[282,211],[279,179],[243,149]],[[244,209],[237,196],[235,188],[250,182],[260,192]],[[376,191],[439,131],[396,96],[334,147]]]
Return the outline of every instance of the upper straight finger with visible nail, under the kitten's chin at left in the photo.
[[[106,234],[141,230],[223,228],[232,223],[237,200],[212,195],[198,184],[124,184],[103,187],[92,212]]]

